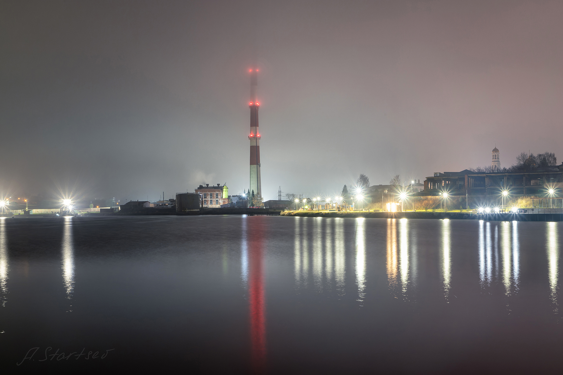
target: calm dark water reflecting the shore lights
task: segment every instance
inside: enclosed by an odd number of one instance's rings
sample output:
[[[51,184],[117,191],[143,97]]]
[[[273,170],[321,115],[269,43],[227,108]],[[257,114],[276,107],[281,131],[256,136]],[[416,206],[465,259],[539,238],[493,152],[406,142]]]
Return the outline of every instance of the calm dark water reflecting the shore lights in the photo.
[[[562,223],[0,219],[2,371],[561,373]]]

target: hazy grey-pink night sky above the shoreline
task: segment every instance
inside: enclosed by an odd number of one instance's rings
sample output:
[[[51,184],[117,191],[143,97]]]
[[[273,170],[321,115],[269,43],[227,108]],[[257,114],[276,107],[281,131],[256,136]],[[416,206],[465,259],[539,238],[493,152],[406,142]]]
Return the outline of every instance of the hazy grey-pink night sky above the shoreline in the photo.
[[[0,189],[265,200],[563,159],[563,2],[0,3]]]

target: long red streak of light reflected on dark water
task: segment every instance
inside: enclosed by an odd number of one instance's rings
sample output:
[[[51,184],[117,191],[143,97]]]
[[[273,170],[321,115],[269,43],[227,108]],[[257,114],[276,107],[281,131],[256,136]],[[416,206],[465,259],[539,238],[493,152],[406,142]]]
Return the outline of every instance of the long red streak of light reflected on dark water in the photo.
[[[264,373],[266,371],[266,308],[262,235],[259,230],[251,234],[249,258],[251,362],[254,373]]]

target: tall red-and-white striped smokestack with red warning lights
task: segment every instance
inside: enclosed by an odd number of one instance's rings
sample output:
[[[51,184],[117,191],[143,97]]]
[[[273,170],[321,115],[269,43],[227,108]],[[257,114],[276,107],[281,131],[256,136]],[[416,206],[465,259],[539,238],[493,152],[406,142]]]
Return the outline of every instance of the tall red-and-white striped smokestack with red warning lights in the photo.
[[[250,191],[254,195],[262,196],[262,183],[260,179],[260,132],[258,132],[258,69],[250,70]]]

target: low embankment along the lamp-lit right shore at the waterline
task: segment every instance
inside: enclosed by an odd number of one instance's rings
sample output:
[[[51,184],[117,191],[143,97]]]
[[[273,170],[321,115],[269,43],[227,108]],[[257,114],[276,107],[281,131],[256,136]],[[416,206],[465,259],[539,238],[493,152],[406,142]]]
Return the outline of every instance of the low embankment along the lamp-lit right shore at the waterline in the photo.
[[[480,214],[475,213],[436,213],[427,211],[404,212],[367,212],[367,211],[283,211],[282,216],[303,216],[307,218],[378,218],[378,219],[478,219],[506,222],[513,220],[519,222],[561,222],[563,214]]]

